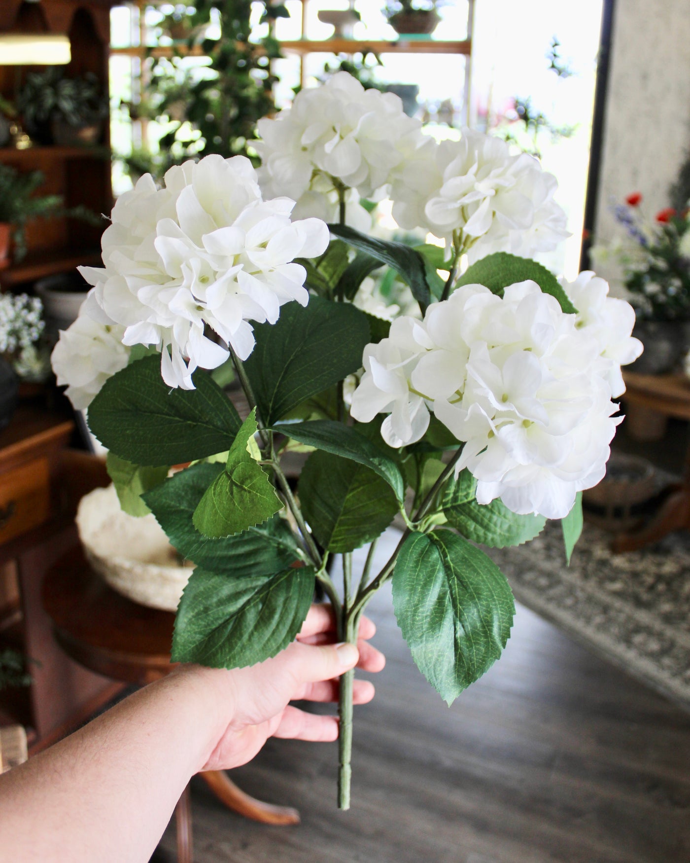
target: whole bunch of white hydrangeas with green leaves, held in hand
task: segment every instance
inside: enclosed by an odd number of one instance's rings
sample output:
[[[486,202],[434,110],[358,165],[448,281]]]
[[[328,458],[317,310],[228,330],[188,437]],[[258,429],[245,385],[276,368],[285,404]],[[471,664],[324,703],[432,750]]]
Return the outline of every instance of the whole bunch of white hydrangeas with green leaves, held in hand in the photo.
[[[258,173],[207,156],[119,198],[104,267],[82,268],[93,288],[54,369],[89,406],[116,482],[141,492],[196,564],[174,660],[275,655],[317,584],[339,638],[354,642],[392,580],[412,656],[451,703],[499,658],[514,613],[474,543],[517,545],[560,519],[569,558],[579,536],[580,492],[603,476],[619,422],[620,365],[641,350],[630,306],[594,274],[561,284],[529,260],[567,236],[565,216],[554,178],[504,142],[465,130],[438,144],[397,97],[345,73],[259,131]],[[356,230],[361,197],[384,195],[398,224],[442,246]],[[382,267],[407,282],[419,314],[365,311]],[[251,406],[243,422],[209,373],[226,362]],[[311,453],[296,489],[281,463],[295,445]],[[405,532],[373,572],[396,514]],[[352,687],[348,672],[343,809]]]

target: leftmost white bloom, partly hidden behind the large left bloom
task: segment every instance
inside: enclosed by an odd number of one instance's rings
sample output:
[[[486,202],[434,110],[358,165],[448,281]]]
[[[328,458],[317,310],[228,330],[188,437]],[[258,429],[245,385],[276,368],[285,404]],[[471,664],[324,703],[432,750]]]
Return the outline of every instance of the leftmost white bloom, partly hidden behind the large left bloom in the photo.
[[[129,362],[130,348],[122,344],[124,327],[110,320],[97,305],[91,288],[78,318],[66,330],[50,359],[58,385],[77,410],[85,410],[109,377]]]

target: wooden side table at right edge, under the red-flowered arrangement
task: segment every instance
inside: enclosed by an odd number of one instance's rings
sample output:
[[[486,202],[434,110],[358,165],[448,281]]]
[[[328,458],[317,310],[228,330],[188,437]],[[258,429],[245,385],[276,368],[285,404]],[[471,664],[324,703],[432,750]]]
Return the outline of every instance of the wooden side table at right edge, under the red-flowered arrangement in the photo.
[[[690,380],[682,375],[637,375],[624,372],[623,400],[646,407],[665,417],[690,420]],[[686,455],[683,480],[668,488],[668,496],[659,512],[643,527],[632,533],[619,533],[612,542],[613,551],[637,551],[668,533],[690,529],[690,450]]]

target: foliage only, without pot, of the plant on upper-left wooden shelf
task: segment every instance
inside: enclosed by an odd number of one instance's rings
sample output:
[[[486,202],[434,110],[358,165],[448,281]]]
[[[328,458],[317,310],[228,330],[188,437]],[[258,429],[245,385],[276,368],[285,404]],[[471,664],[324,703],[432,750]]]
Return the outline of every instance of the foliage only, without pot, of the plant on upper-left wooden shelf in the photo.
[[[17,110],[29,134],[59,119],[75,128],[108,117],[108,99],[97,76],[67,78],[61,66],[29,72],[17,97]]]

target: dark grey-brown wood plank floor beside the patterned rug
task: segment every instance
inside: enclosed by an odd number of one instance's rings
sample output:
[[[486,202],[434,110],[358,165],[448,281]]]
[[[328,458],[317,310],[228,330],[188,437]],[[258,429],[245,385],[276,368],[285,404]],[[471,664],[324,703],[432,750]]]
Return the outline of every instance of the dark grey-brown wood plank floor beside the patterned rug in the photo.
[[[195,863],[690,861],[690,716],[526,608],[448,709],[390,593],[370,608],[388,665],[355,709],[353,808],[336,810],[335,745],[269,741],[233,778],[302,824],[245,821],[194,780]],[[168,828],[155,859],[173,849]]]

